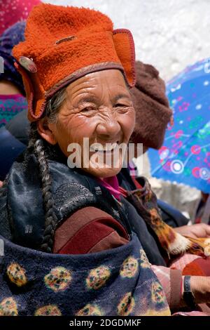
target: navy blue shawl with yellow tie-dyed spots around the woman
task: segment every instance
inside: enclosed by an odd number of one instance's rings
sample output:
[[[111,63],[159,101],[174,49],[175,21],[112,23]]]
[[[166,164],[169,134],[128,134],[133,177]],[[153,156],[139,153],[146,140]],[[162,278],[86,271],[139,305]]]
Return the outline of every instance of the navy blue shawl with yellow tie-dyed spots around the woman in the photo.
[[[0,238],[0,315],[170,315],[136,235],[84,255],[43,253]]]

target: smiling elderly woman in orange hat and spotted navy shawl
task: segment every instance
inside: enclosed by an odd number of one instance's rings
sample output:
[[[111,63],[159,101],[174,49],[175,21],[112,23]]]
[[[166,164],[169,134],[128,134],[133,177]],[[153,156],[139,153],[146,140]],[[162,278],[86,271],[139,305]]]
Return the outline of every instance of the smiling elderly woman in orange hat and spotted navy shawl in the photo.
[[[132,35],[97,11],[41,4],[25,37],[14,56],[31,137],[0,192],[0,315],[170,315],[116,178],[135,124]],[[207,278],[191,285],[208,301]]]

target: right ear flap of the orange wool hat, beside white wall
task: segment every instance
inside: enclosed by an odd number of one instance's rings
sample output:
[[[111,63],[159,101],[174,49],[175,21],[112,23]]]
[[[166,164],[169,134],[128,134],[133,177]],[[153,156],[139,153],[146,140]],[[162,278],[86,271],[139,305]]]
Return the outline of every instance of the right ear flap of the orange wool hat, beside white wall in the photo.
[[[134,39],[129,29],[114,29],[113,42],[130,87],[136,83]]]

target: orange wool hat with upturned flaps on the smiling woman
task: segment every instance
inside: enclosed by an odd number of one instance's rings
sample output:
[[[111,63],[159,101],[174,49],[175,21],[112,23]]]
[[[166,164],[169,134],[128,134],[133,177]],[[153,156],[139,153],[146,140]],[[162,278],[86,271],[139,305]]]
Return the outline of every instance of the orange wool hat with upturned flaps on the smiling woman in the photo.
[[[13,48],[13,55],[27,93],[29,121],[41,118],[56,91],[85,74],[118,69],[130,87],[135,84],[131,32],[113,30],[106,15],[89,8],[35,6],[25,41]]]

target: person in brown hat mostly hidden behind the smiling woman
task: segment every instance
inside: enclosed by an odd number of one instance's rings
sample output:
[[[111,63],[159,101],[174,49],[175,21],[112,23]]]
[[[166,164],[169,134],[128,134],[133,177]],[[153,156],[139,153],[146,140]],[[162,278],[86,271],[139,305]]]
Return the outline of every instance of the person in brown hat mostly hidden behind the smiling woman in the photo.
[[[148,148],[162,146],[167,125],[172,121],[172,110],[165,94],[165,82],[153,65],[136,62],[137,81],[131,89],[136,111],[136,124],[130,138],[131,143],[142,143],[143,152]],[[130,169],[122,169],[118,174],[120,186],[127,190],[136,189],[137,181],[130,175]],[[192,237],[209,237],[210,227],[206,224],[187,225],[188,219],[173,206],[158,199],[162,220],[176,227],[177,232]]]

